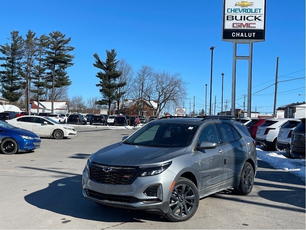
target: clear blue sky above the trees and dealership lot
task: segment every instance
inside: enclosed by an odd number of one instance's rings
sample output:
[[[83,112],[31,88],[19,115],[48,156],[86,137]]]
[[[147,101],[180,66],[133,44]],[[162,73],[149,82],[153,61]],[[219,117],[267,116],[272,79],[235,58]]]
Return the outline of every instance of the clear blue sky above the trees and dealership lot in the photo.
[[[117,59],[126,59],[134,70],[149,65],[157,71],[181,73],[188,81],[188,98],[195,96],[195,110],[207,110],[211,51],[213,60],[212,98],[221,110],[221,73],[224,101],[231,100],[233,44],[221,40],[222,0],[215,1],[5,1],[2,2],[0,44],[12,30],[25,36],[28,29],[37,36],[60,30],[75,47],[73,67],[67,69],[72,85],[69,97],[99,96],[95,86],[98,69],[93,54],[106,58],[115,49]],[[238,47],[245,54],[246,47]],[[275,82],[276,58],[281,80],[305,77],[305,1],[267,0],[266,41],[253,45],[252,93]],[[298,72],[297,72],[298,71]],[[295,72],[295,73],[294,73]],[[291,74],[292,73],[292,74]],[[289,75],[288,75],[289,74]],[[258,86],[259,85],[259,86]],[[247,94],[248,63],[237,62],[236,99]],[[305,101],[305,79],[280,82],[277,105]],[[225,104],[225,103],[224,103]],[[224,105],[223,104],[223,105]],[[247,104],[247,99],[246,99]],[[252,110],[273,112],[274,86],[252,96]],[[236,101],[241,108],[243,99]],[[182,106],[182,105],[181,105]],[[230,107],[230,104],[229,104]]]

